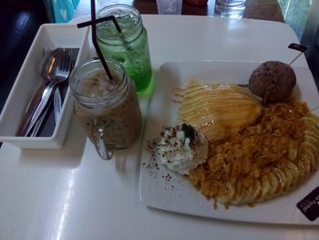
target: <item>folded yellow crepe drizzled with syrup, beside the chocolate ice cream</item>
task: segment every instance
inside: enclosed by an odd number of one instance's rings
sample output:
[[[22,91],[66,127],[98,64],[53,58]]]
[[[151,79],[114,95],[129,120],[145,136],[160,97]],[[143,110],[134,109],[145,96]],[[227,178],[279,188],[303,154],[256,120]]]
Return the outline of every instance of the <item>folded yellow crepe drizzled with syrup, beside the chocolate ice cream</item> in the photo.
[[[179,123],[202,131],[208,141],[219,141],[252,124],[261,103],[248,89],[236,84],[202,84],[190,79],[182,94]]]

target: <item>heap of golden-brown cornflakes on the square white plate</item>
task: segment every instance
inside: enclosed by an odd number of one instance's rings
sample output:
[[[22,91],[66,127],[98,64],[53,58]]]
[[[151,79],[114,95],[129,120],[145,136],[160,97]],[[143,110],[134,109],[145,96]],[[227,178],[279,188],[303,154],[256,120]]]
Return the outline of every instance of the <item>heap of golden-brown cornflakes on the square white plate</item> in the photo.
[[[190,171],[190,183],[208,198],[227,194],[227,185],[237,183],[249,193],[254,179],[262,182],[263,172],[280,169],[288,160],[300,161],[301,118],[307,114],[307,105],[293,99],[264,107],[252,126],[223,141],[210,142],[209,160]]]

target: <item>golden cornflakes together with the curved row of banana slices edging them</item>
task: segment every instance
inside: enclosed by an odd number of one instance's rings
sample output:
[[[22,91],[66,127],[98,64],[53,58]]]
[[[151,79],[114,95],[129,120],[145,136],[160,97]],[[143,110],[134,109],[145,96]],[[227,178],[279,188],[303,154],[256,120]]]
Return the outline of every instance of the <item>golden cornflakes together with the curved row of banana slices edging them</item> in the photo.
[[[241,130],[209,141],[208,161],[190,171],[190,183],[226,206],[286,193],[318,167],[318,126],[307,104],[296,99],[262,106]]]

